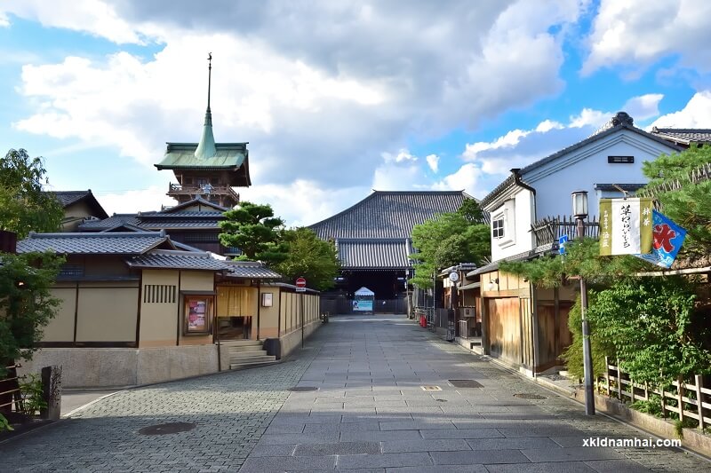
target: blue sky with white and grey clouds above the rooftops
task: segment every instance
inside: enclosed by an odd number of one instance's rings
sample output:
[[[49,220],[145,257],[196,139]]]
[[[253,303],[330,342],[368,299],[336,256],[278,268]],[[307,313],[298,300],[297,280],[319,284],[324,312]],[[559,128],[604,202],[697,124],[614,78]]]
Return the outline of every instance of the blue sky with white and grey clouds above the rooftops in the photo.
[[[166,141],[218,142],[289,225],[376,190],[483,197],[635,124],[711,128],[705,0],[0,0],[0,144],[113,212],[171,204]]]

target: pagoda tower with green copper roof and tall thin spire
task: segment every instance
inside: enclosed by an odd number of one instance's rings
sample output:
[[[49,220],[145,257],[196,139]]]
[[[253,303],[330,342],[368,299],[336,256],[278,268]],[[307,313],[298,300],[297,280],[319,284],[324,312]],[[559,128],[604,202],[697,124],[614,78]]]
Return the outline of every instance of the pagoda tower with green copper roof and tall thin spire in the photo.
[[[208,56],[207,111],[200,143],[166,143],[163,161],[155,166],[158,170],[172,169],[178,184],[171,183],[168,195],[179,204],[202,198],[231,209],[239,202],[239,194],[233,187],[252,185],[249,150],[247,142],[215,143],[211,82],[212,53]]]

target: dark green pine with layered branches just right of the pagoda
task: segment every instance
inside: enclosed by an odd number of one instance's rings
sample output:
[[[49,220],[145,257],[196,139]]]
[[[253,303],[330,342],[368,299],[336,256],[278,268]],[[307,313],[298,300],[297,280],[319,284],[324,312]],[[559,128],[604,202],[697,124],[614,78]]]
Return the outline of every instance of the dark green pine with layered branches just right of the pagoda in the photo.
[[[284,261],[284,220],[274,217],[271,205],[243,201],[224,216],[226,220],[220,222],[220,243],[240,248],[239,259],[260,260],[270,265]]]

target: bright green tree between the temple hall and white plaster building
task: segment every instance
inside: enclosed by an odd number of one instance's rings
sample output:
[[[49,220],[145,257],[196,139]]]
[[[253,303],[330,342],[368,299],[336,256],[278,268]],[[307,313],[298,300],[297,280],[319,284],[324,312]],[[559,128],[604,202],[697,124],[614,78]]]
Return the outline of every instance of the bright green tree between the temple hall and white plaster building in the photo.
[[[417,253],[415,275],[410,280],[419,288],[432,287],[433,272],[459,263],[486,264],[491,256],[489,225],[473,199],[466,199],[457,212],[444,213],[412,229],[412,246]]]

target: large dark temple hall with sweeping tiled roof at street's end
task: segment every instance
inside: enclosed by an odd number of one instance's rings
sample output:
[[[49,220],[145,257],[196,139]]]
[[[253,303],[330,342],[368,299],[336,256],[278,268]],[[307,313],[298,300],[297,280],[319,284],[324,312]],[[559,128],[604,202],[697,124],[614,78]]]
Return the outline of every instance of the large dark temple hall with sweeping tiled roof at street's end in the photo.
[[[413,272],[412,227],[454,212],[472,198],[464,191],[374,191],[356,205],[310,225],[319,238],[332,240],[338,250],[341,273],[331,294],[346,303],[334,310],[349,307],[346,304],[356,290],[364,287],[375,293],[376,305],[380,305],[375,311],[403,311],[407,280]]]

